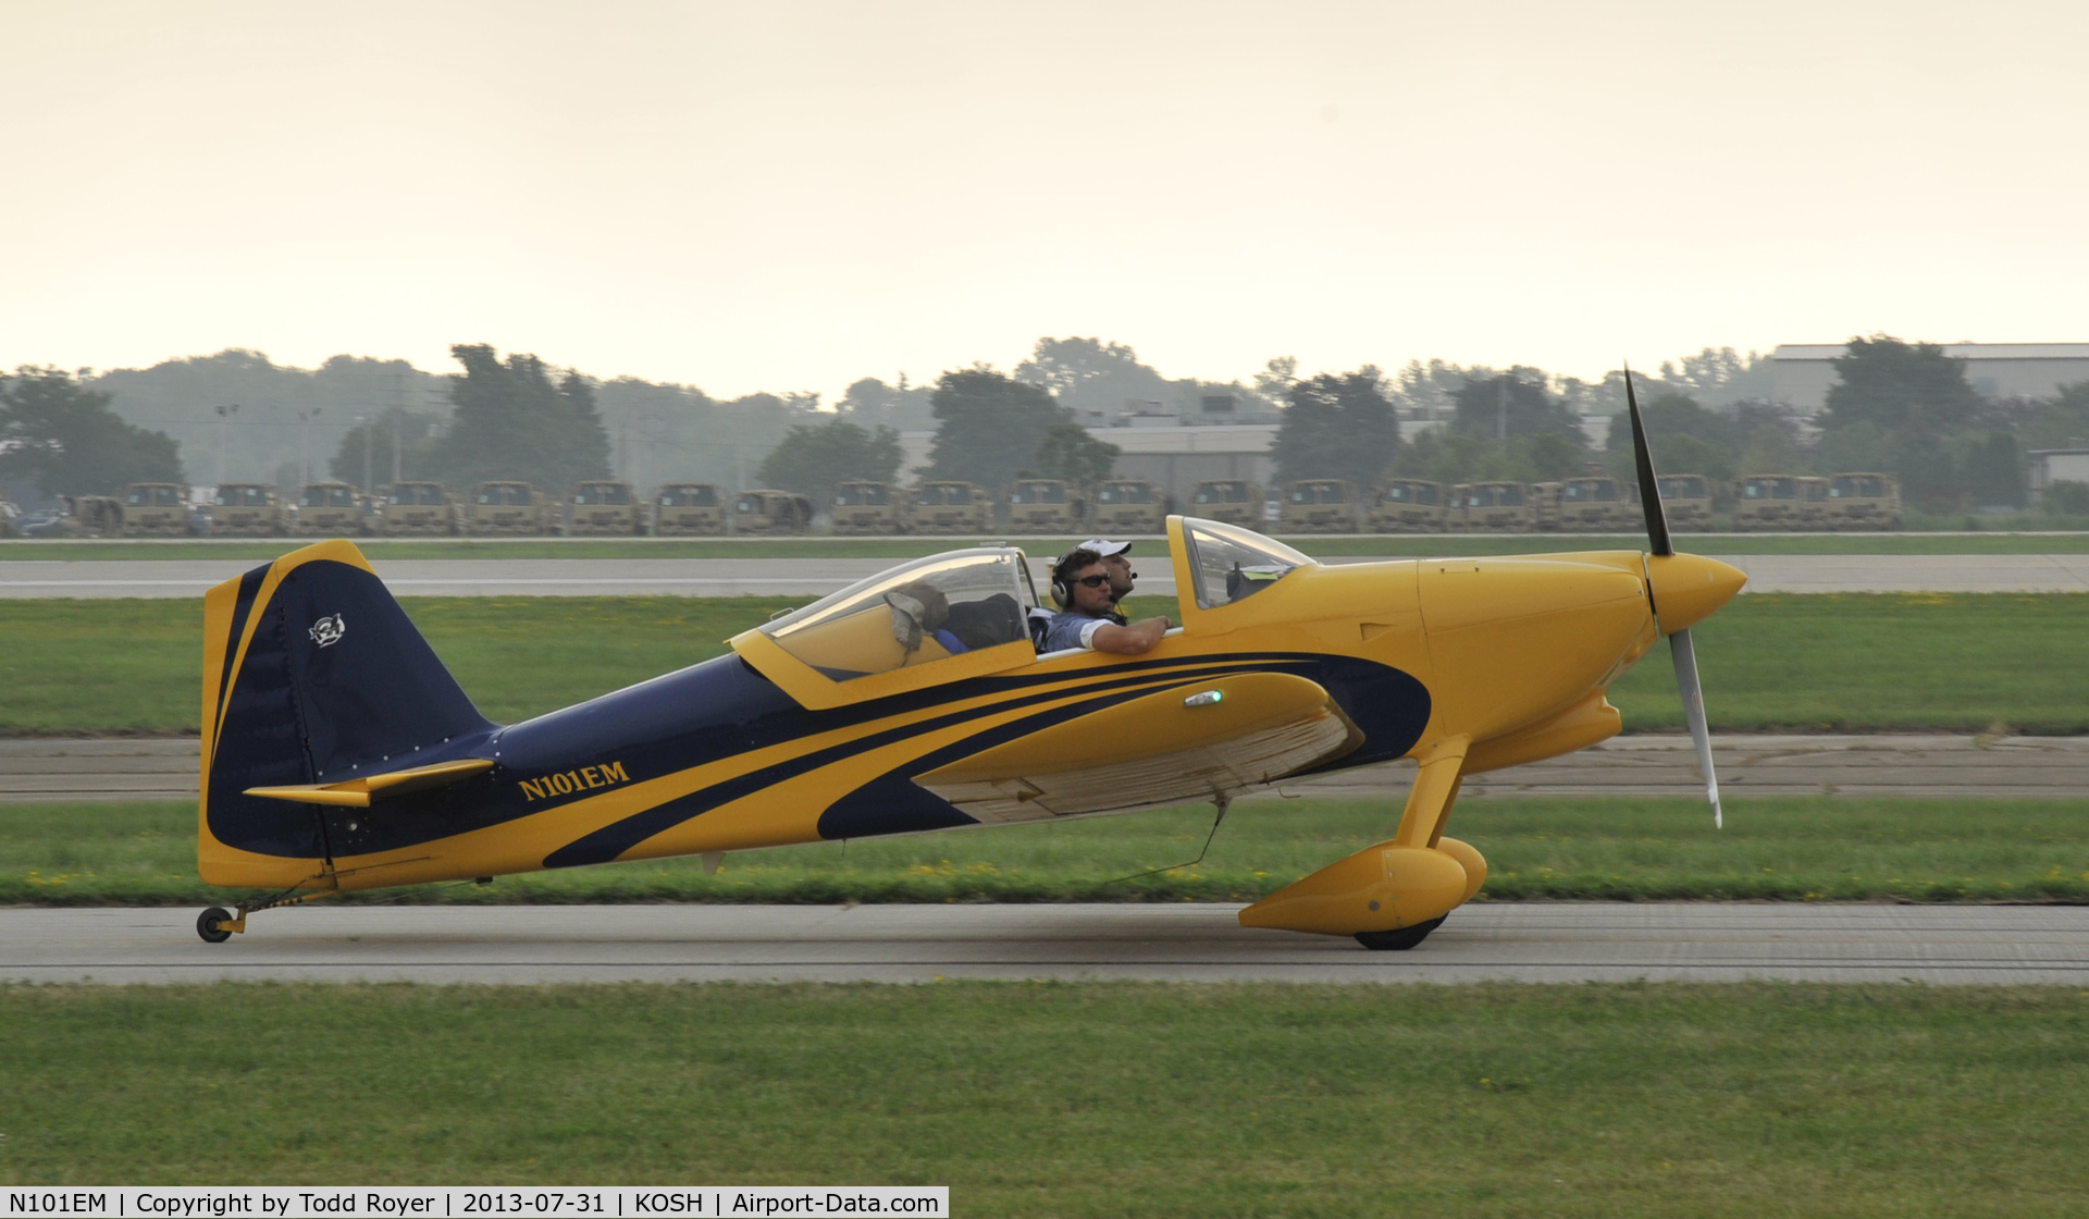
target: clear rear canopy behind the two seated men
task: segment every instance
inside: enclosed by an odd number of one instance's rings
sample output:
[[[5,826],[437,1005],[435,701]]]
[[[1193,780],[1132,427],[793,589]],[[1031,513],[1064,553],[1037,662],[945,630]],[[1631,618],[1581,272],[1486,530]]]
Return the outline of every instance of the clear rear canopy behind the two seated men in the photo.
[[[760,631],[836,682],[1030,642],[1036,592],[1024,552],[950,550],[905,562],[794,611]]]

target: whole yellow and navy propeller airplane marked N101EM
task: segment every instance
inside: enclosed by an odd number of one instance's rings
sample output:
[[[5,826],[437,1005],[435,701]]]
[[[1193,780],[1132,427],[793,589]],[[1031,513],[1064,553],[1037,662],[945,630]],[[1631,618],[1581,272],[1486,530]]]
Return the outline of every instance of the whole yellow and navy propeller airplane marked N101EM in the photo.
[[[1629,374],[1627,374],[1629,389]],[[1322,567],[1168,519],[1182,625],[1136,659],[1036,654],[1022,550],[905,562],[731,652],[491,723],[349,542],[205,598],[198,866],[257,910],[539,868],[1122,813],[1421,763],[1398,830],[1241,912],[1406,949],[1487,878],[1443,836],[1469,774],[1619,732],[1604,690],[1669,638],[1715,818],[1690,627],[1740,571],[1675,554],[1638,401],[1648,552]]]

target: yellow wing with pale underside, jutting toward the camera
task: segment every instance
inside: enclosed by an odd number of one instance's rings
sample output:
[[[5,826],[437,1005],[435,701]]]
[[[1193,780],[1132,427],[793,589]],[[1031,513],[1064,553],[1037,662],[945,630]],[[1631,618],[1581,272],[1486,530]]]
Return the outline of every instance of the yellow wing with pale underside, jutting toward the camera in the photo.
[[[1230,799],[1362,742],[1320,684],[1233,673],[1055,723],[915,782],[982,822],[1034,822]]]

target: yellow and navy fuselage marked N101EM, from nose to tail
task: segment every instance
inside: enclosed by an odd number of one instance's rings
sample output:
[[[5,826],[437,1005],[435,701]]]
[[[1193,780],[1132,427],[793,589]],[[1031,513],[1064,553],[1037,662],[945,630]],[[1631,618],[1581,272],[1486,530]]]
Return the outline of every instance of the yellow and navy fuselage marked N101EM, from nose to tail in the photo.
[[[1673,631],[1698,600],[1732,596],[1740,575],[1690,560],[1688,573],[1657,575],[1650,598],[1640,552],[1308,565],[1253,596],[1199,604],[1174,542],[1182,627],[1145,657],[1040,659],[1019,642],[848,684],[808,675],[750,631],[731,654],[416,751],[422,765],[495,763],[449,786],[284,818],[280,803],[211,784],[205,878],[288,887],[326,872],[336,889],[368,889],[969,826],[915,780],[1235,673],[1306,677],[1339,705],[1356,744],[1312,769],[1460,734],[1473,742],[1469,772],[1515,765],[1617,732],[1604,688],[1665,634],[1663,579],[1677,588]],[[1151,795],[1101,811],[1210,799],[1193,786]]]

